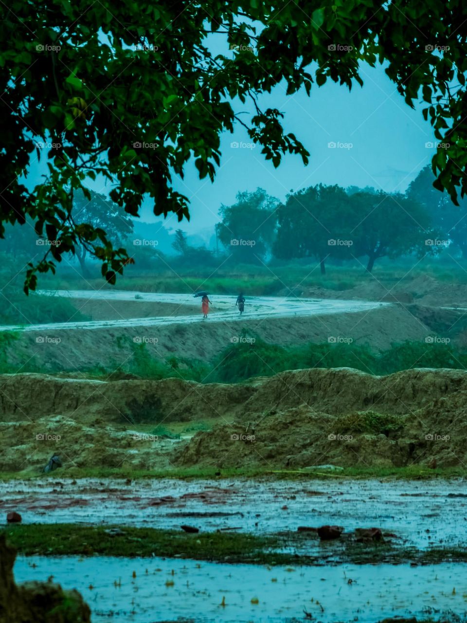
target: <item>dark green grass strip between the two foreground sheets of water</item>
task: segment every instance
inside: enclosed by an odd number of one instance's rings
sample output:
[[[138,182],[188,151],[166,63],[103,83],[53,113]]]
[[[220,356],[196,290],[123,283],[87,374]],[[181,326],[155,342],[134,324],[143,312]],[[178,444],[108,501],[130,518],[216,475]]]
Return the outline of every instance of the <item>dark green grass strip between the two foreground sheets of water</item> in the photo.
[[[106,530],[119,528],[123,535]],[[289,532],[257,536],[240,532],[158,530],[129,526],[82,526],[75,524],[11,525],[4,528],[7,541],[26,556],[125,556],[191,558],[212,562],[321,565],[465,562],[465,548],[432,548],[420,551],[395,541],[356,543],[351,535],[321,544],[316,533]],[[295,551],[301,551],[296,554]]]

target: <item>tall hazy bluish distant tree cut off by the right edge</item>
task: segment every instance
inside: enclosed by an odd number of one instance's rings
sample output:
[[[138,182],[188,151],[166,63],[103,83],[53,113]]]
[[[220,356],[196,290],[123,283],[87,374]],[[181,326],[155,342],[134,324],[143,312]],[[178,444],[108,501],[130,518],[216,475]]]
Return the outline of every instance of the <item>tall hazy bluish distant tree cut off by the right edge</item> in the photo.
[[[410,183],[407,196],[425,207],[433,225],[440,230],[441,239],[452,240],[463,259],[467,259],[467,201],[461,199],[455,206],[446,192],[440,193],[433,187],[434,181],[431,167],[425,166]]]

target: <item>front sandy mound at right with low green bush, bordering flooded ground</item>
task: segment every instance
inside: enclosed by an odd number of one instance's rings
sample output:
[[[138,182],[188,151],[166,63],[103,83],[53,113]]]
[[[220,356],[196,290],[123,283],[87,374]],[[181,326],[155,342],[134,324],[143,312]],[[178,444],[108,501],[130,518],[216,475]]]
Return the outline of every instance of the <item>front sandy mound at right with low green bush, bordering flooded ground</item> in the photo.
[[[364,426],[362,426],[362,423]],[[312,468],[467,464],[467,392],[403,416],[374,411],[346,417],[307,406],[197,433],[179,449],[179,465]]]

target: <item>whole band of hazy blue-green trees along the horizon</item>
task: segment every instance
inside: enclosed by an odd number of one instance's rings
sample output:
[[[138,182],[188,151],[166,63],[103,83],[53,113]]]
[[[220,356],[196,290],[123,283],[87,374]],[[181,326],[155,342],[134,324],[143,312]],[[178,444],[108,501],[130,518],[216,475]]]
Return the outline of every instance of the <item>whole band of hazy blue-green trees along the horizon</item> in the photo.
[[[170,243],[159,247],[158,232],[146,237],[134,233],[134,221],[105,196],[91,193],[75,197],[73,218],[86,227],[106,229],[113,244],[126,247],[136,270],[177,270],[177,267],[219,267],[229,264],[261,265],[271,261],[326,263],[360,262],[371,272],[382,257],[424,257],[441,252],[467,259],[467,201],[455,206],[446,193],[433,188],[429,166],[420,171],[406,193],[385,193],[374,188],[317,184],[291,192],[281,203],[258,188],[237,194],[232,206],[221,206],[210,249],[189,244],[178,229]],[[6,257],[24,254],[28,260],[42,252],[33,227],[7,229],[0,250]],[[144,229],[144,228],[143,228]],[[164,229],[159,227],[159,231]],[[165,242],[168,232],[164,229]],[[39,249],[38,249],[39,246]],[[167,252],[167,247],[169,252]],[[89,275],[89,252],[77,245],[80,272]],[[134,267],[134,268],[133,268]]]

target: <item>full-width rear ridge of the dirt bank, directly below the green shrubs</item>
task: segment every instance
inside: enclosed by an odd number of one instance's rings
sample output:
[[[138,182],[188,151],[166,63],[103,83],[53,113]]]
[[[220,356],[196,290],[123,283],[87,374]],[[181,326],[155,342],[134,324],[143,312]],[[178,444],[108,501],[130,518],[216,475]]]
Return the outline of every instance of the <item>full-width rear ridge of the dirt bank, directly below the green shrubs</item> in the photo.
[[[87,424],[184,422],[210,417],[248,419],[306,404],[316,411],[373,409],[407,413],[436,397],[467,389],[467,372],[412,369],[372,376],[351,368],[286,371],[248,384],[161,381],[92,381],[45,374],[0,375],[3,421],[37,421],[52,413]]]

